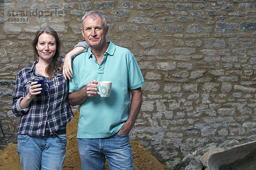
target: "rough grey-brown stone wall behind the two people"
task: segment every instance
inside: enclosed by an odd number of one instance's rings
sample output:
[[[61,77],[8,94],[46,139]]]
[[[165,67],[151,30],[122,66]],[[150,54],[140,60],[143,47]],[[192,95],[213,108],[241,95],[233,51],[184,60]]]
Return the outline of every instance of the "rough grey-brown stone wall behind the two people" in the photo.
[[[105,13],[108,40],[128,48],[143,76],[131,132],[157,159],[182,157],[226,139],[256,139],[255,0],[5,0],[0,6],[0,147],[16,142],[15,77],[31,65],[44,26],[65,55],[83,40],[84,12]],[[19,19],[18,19],[19,18]]]

